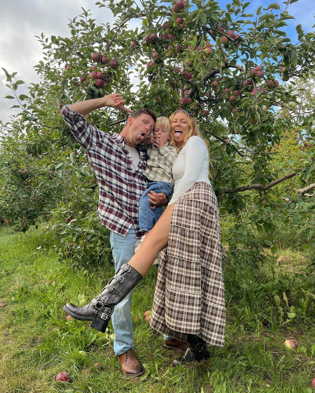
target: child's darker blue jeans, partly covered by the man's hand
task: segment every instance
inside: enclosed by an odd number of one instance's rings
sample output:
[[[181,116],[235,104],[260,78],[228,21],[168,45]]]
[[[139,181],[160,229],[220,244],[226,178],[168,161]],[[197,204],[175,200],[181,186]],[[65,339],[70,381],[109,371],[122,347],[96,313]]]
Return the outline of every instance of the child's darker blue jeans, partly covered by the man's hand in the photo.
[[[151,190],[157,194],[164,193],[169,198],[173,187],[167,182],[148,182],[148,188],[139,200],[139,227],[141,231],[150,231],[163,213],[162,206],[157,206],[155,209],[150,208],[147,194]]]

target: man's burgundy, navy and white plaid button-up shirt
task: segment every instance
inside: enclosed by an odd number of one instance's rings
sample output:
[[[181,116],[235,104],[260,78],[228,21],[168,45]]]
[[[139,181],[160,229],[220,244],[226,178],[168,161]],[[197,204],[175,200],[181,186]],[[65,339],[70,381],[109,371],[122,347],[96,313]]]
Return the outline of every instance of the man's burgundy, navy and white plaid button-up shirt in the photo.
[[[147,155],[139,149],[140,161],[132,172],[132,158],[125,147],[125,138],[116,132],[110,136],[92,127],[84,116],[67,106],[62,108],[63,119],[86,152],[99,185],[97,213],[110,230],[126,236],[131,226],[139,231],[138,202],[148,187],[143,172],[147,169]]]

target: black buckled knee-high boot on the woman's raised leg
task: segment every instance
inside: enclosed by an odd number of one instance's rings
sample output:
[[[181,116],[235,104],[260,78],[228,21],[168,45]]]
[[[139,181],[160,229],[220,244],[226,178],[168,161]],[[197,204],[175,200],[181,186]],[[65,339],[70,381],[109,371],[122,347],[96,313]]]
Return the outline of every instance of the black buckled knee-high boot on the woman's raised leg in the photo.
[[[123,264],[91,303],[83,307],[68,303],[63,309],[75,319],[92,321],[91,327],[104,333],[114,306],[122,301],[142,278],[132,266]]]

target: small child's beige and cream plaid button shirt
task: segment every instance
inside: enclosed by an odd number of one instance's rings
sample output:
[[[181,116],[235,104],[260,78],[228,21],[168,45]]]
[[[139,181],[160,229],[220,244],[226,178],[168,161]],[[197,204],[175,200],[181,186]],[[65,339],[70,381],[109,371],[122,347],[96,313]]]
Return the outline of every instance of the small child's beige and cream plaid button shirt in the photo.
[[[176,147],[165,143],[165,146],[159,149],[153,144],[147,148],[147,166],[144,175],[154,182],[167,182],[174,185],[172,167],[177,158]]]

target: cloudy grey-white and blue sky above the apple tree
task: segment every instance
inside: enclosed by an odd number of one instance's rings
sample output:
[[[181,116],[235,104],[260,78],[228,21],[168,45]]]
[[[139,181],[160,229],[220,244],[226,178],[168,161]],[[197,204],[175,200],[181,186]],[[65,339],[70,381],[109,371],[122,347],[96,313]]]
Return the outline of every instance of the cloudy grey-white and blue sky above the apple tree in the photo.
[[[251,5],[247,12],[255,14],[257,7],[267,7],[273,2],[277,2],[283,7],[282,1],[278,0],[249,0]],[[225,8],[228,1],[218,0],[220,6]],[[19,94],[27,94],[27,85],[38,83],[39,76],[34,70],[35,64],[42,59],[42,47],[35,35],[44,33],[45,37],[55,35],[58,37],[71,37],[70,29],[67,26],[69,19],[73,19],[82,13],[82,8],[91,9],[96,23],[110,22],[114,20],[112,13],[106,9],[95,6],[95,1],[76,0],[64,1],[54,0],[53,2],[44,0],[2,0],[1,14],[2,22],[0,29],[0,120],[9,120],[9,116],[18,113],[18,109],[10,109],[13,100],[4,99],[5,95],[10,95],[11,91],[5,87],[6,80],[2,67],[9,73],[17,72],[16,80],[22,79],[26,83],[18,89]],[[295,43],[295,26],[302,24],[304,32],[313,31],[315,24],[315,1],[299,0],[292,4],[289,13],[295,20],[287,20],[289,27],[286,28],[291,41]]]

